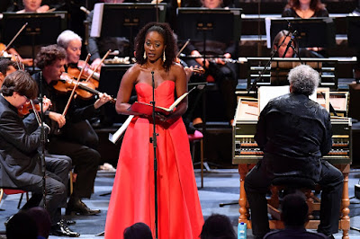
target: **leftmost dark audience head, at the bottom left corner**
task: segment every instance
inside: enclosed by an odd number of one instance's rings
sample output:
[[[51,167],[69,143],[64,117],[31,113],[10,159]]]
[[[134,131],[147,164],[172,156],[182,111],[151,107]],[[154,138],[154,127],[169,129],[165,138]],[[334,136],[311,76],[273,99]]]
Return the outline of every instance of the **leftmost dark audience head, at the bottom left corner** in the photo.
[[[6,224],[7,239],[36,239],[38,228],[35,220],[26,212],[18,212]]]

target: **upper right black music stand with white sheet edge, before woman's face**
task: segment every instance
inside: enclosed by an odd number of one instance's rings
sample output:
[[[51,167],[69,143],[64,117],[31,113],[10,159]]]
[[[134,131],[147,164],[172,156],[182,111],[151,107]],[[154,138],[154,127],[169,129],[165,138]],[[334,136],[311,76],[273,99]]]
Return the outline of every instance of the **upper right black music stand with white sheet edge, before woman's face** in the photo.
[[[335,46],[335,26],[333,20],[329,17],[309,19],[271,18],[266,20],[268,48],[272,47],[276,34],[288,28],[289,22],[293,31],[298,32],[296,41],[300,48],[331,48]]]

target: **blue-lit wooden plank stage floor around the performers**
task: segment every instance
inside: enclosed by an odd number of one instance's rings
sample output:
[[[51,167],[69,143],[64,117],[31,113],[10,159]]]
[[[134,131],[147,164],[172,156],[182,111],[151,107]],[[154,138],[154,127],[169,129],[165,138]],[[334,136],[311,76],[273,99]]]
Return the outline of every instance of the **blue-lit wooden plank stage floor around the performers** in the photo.
[[[76,216],[72,219],[76,220],[75,226],[70,226],[74,231],[80,233],[80,238],[102,238],[99,235],[103,232],[105,226],[106,212],[112,190],[112,182],[115,173],[99,171],[97,173],[94,195],[90,200],[84,200],[89,208],[100,208],[102,213],[98,216]],[[219,207],[220,203],[237,202],[239,190],[239,176],[237,169],[217,169],[211,170],[210,173],[204,173],[204,187],[201,189],[200,171],[195,170],[196,182],[199,187],[199,197],[202,204],[203,216],[209,217],[212,213],[227,215],[233,226],[238,225],[238,205]],[[360,170],[352,169],[349,174],[349,197],[350,199],[350,217],[351,226],[360,228],[360,199],[354,198],[354,187],[360,179]],[[104,195],[103,195],[104,194]],[[0,203],[0,238],[4,237],[4,221],[17,212],[17,203],[20,196],[10,195]],[[65,214],[65,211],[63,211]],[[251,230],[247,232],[247,238],[251,239]],[[355,230],[349,231],[350,238],[360,238],[360,233]],[[340,231],[335,238],[341,238]],[[61,238],[58,236],[49,236],[49,238]],[[67,238],[67,237],[65,237]]]

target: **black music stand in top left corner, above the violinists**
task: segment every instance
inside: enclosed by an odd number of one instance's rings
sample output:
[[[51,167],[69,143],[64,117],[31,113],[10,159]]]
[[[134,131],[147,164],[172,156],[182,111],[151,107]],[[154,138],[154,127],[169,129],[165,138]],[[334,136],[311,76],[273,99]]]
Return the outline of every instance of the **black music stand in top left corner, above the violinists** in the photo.
[[[34,60],[35,46],[56,44],[58,35],[67,29],[67,12],[4,13],[3,41],[10,42],[26,22],[28,25],[14,40],[14,45],[31,46],[31,58]]]

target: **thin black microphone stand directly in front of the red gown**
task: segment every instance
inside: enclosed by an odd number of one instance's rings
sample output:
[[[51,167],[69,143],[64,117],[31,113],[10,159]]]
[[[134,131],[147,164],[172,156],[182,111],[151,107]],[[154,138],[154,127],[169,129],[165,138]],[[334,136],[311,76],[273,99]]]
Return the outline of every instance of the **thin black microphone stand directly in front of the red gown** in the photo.
[[[154,147],[154,190],[155,190],[155,239],[157,239],[157,132],[156,132],[156,119],[155,119],[155,80],[154,71],[151,71],[152,80],[152,120],[153,120],[153,133],[150,137],[150,143]]]

